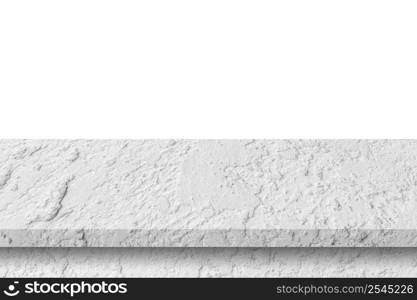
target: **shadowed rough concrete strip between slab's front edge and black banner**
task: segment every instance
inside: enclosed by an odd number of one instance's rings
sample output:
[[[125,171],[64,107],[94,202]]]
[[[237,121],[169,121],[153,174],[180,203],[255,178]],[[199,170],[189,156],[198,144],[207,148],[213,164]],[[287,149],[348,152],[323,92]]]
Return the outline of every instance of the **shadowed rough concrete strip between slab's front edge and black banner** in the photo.
[[[0,277],[416,277],[415,248],[0,249]]]

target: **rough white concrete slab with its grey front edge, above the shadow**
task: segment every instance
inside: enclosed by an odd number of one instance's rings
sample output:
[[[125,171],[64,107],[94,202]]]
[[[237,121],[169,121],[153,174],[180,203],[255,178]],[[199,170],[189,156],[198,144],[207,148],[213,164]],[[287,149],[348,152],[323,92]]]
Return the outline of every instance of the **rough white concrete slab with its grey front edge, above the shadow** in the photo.
[[[416,246],[417,141],[2,140],[1,246]]]

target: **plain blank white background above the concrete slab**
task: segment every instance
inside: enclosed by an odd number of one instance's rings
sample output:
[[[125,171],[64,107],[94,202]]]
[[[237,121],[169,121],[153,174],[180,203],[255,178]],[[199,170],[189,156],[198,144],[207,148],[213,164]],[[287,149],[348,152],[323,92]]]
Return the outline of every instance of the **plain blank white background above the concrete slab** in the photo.
[[[417,138],[417,2],[5,0],[0,138]]]

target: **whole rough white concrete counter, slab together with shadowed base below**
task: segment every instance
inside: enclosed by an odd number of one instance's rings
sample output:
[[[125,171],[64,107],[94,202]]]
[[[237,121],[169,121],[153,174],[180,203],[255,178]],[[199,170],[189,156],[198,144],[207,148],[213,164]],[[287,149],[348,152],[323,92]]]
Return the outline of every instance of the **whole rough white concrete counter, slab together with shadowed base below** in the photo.
[[[0,277],[415,277],[416,186],[413,140],[0,140]]]

